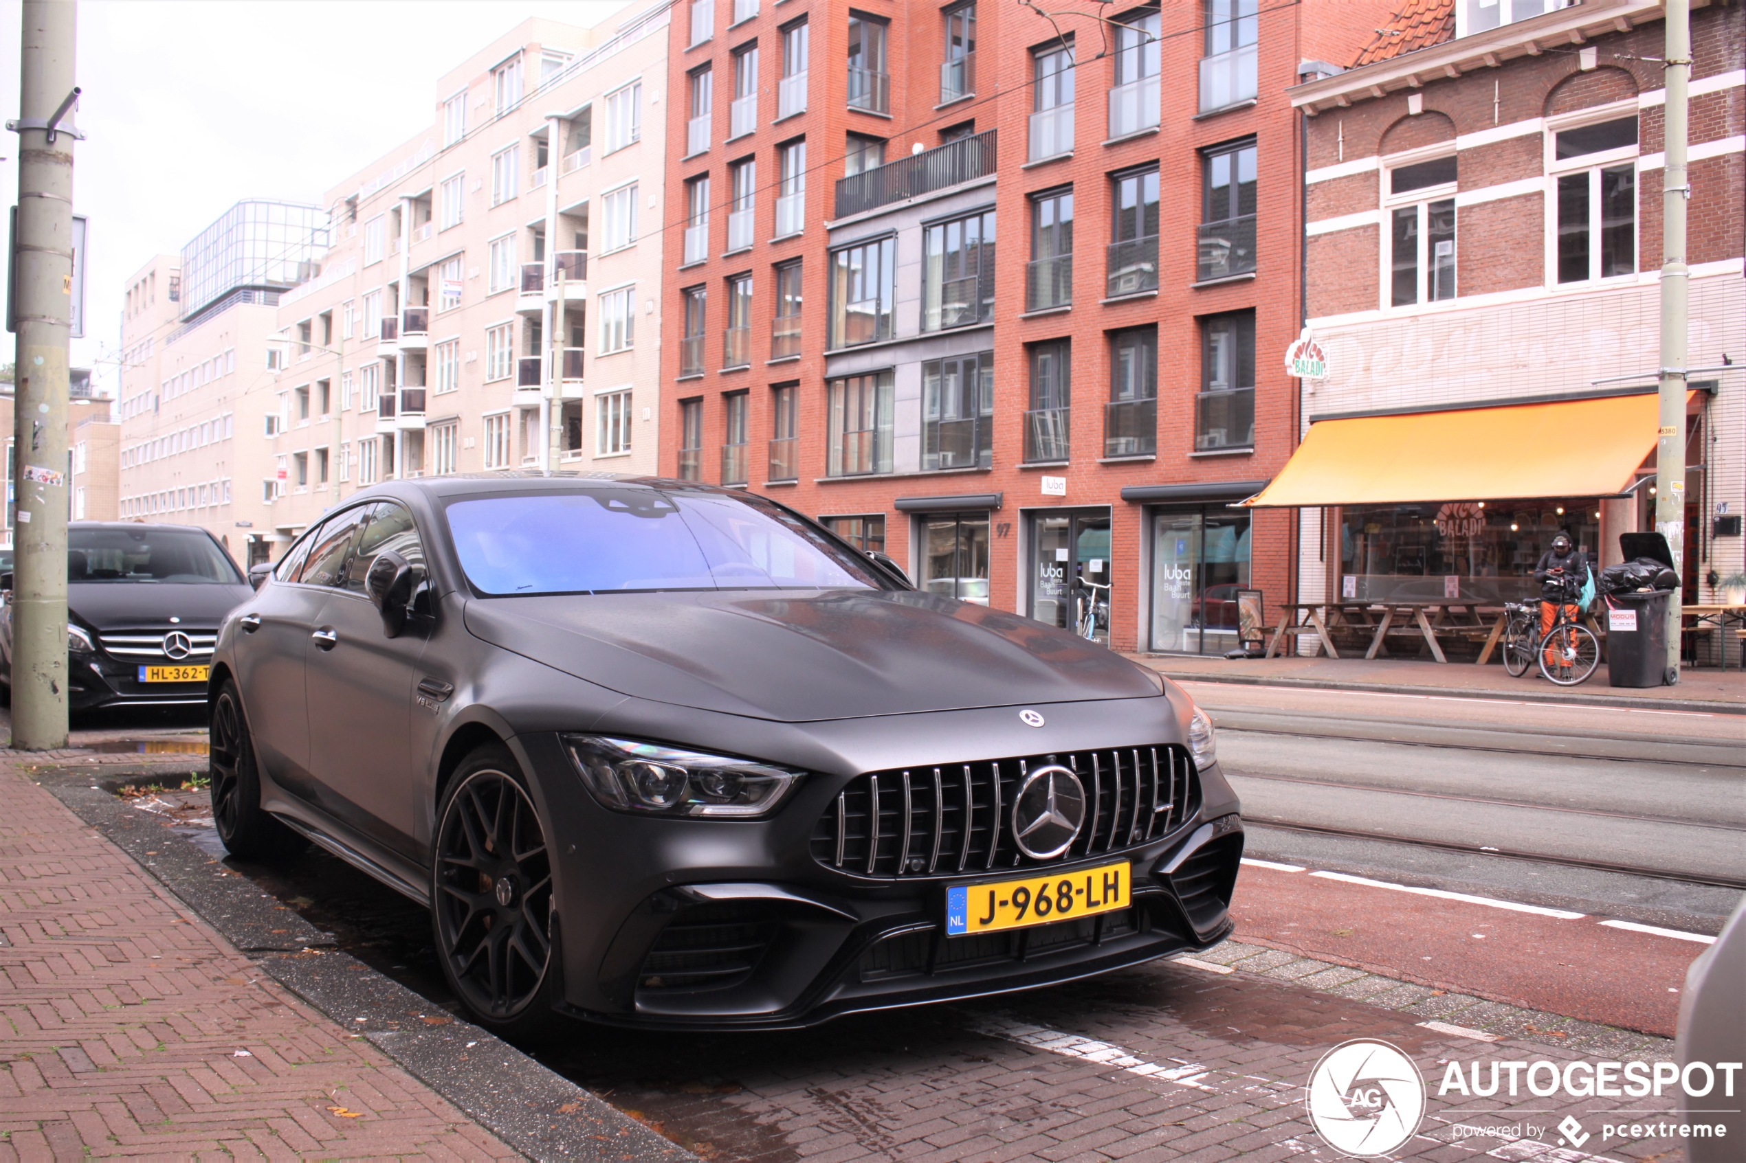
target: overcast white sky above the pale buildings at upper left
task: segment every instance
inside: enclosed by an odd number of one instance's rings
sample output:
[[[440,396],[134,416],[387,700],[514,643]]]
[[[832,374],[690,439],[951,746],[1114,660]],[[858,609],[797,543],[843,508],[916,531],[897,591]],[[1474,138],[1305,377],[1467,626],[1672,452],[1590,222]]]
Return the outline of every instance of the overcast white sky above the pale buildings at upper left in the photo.
[[[431,124],[436,77],[529,16],[592,26],[623,0],[80,0],[73,207],[91,216],[73,366],[113,385],[122,281],[232,202],[320,204]],[[17,117],[21,5],[0,0],[0,110]],[[0,204],[17,138],[0,139]],[[12,337],[0,331],[0,361]]]

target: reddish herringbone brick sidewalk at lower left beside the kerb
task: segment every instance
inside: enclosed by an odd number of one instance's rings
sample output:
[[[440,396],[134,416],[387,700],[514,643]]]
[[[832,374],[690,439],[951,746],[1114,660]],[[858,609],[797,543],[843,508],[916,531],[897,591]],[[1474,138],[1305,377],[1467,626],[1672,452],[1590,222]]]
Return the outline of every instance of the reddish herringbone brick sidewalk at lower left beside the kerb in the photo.
[[[0,1161],[515,1158],[0,758]]]

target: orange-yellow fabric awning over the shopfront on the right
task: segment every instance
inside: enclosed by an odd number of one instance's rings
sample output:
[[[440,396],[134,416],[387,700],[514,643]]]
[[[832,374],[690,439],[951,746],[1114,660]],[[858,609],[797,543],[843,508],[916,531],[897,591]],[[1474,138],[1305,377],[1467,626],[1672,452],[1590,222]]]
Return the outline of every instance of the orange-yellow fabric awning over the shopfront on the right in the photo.
[[[1254,507],[1606,497],[1655,450],[1655,392],[1316,420]]]

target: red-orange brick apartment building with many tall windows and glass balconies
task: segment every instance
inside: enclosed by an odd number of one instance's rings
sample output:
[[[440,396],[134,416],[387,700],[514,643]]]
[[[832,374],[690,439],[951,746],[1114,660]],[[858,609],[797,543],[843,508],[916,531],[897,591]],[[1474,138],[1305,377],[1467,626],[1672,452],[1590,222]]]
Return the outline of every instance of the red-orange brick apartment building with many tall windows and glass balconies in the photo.
[[[676,7],[660,471],[936,593],[1070,624],[1109,586],[1112,647],[1231,649],[1238,586],[1296,588],[1296,514],[1231,507],[1299,431],[1285,91],[1392,9]]]

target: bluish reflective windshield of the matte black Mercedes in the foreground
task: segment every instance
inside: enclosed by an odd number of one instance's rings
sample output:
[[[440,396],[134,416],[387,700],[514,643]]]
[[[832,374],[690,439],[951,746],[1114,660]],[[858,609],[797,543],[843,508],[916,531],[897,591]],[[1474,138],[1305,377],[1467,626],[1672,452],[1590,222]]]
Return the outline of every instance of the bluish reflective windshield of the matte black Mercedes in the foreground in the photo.
[[[601,488],[456,500],[449,532],[487,595],[883,589],[870,561],[758,497]]]

